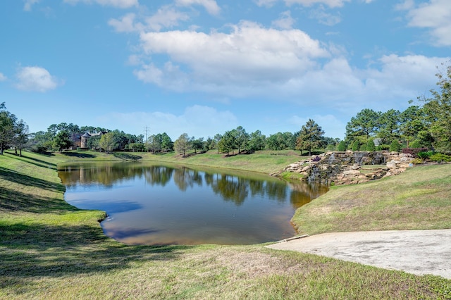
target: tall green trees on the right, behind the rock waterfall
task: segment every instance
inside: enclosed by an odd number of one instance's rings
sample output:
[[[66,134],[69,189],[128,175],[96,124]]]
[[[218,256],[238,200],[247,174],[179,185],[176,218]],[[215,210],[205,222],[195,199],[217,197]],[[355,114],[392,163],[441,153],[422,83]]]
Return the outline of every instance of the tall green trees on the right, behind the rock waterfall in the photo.
[[[451,151],[451,65],[436,76],[438,89],[431,89],[430,97],[420,96],[418,105],[409,106],[405,111],[365,108],[357,113],[346,125],[341,149]]]

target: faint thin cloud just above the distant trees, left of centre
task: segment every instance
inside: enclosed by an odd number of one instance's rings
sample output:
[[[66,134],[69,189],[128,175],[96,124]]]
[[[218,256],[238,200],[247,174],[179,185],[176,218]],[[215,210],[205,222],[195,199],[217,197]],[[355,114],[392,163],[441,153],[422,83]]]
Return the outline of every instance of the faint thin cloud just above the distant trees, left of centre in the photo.
[[[224,124],[230,128],[238,126],[237,118],[230,111],[218,111],[216,108],[199,105],[185,108],[180,115],[159,111],[109,113],[98,118],[98,121],[106,127],[121,127],[127,132],[149,126],[149,135],[166,132],[173,141],[184,132],[190,137],[206,138],[222,133]]]

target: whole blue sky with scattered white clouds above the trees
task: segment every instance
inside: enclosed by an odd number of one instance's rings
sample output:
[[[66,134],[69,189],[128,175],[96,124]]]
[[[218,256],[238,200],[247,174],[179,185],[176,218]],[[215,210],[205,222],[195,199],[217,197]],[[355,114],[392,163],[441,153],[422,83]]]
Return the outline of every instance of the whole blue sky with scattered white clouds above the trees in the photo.
[[[450,0],[2,0],[0,102],[30,126],[345,137],[450,64]],[[443,68],[443,67],[442,67]]]

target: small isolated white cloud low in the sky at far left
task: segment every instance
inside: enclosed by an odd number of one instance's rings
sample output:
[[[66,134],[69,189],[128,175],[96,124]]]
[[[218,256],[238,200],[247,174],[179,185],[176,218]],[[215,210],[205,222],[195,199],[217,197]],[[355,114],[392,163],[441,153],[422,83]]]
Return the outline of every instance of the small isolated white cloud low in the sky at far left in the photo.
[[[58,80],[41,67],[23,67],[16,73],[16,87],[25,91],[47,92],[58,87]]]

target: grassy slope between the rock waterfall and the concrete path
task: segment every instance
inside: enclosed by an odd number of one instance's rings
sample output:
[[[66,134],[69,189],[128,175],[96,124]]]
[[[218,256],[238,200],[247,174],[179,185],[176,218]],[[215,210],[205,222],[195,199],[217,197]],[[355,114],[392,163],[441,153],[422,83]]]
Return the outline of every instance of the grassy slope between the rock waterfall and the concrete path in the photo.
[[[299,208],[301,233],[451,228],[451,165],[409,168],[362,185],[332,187]]]

